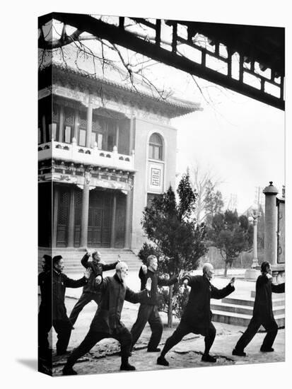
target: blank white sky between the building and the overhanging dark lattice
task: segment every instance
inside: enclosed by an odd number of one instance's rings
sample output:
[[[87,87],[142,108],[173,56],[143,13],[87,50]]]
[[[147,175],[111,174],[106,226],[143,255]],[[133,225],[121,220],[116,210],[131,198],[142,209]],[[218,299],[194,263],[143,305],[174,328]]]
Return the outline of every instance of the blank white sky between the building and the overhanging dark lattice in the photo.
[[[177,171],[199,163],[223,181],[223,197],[237,195],[243,212],[255,202],[255,187],[273,181],[281,192],[284,185],[284,112],[238,93],[220,93],[219,100],[214,107],[201,98],[203,112],[173,120]]]

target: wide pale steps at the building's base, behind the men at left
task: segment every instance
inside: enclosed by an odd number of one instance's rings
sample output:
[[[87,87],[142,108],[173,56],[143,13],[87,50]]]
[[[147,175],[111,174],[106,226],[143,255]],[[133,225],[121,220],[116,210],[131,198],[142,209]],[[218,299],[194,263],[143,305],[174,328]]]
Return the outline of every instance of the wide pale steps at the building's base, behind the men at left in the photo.
[[[90,250],[90,249],[88,249]],[[141,260],[132,250],[118,249],[118,248],[98,248],[102,260],[106,263],[117,261],[117,255],[121,256],[121,260],[127,262],[129,272],[138,272],[141,267]],[[82,274],[84,267],[81,265],[81,258],[86,253],[84,249],[72,248],[39,248],[38,251],[38,270],[41,272],[42,255],[62,255],[64,258],[64,273],[65,274]],[[110,272],[107,274],[110,275]]]

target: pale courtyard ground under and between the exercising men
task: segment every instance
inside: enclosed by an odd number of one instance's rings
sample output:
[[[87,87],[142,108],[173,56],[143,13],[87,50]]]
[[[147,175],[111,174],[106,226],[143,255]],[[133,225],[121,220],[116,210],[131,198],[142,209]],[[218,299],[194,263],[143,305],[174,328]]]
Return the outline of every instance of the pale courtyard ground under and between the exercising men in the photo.
[[[70,276],[70,274],[68,274]],[[78,275],[72,275],[72,278],[77,278]],[[136,274],[129,274],[128,285],[134,289],[139,290],[139,279]],[[228,283],[228,279],[217,277],[214,279],[214,285],[222,287]],[[250,291],[255,289],[255,282],[243,281],[238,279],[235,284],[234,297],[249,297]],[[81,289],[67,289],[66,307],[68,314],[71,312],[76,298],[80,296]],[[130,329],[136,320],[139,304],[124,303],[122,312],[122,321]],[[71,340],[69,344],[69,351],[78,346],[85,337],[90,322],[95,314],[96,305],[91,302],[86,306],[74,325],[75,329],[72,331]],[[174,318],[174,327],[172,329],[166,326],[167,316],[161,313],[163,323],[165,325],[163,337],[160,342],[160,347],[163,347],[165,340],[173,333],[178,320]],[[188,368],[188,367],[203,367],[203,366],[222,366],[230,364],[255,364],[266,362],[277,362],[285,360],[285,330],[279,330],[274,343],[275,351],[273,353],[262,353],[259,347],[262,344],[262,339],[265,334],[259,332],[252,342],[247,346],[247,356],[245,358],[232,355],[232,350],[238,338],[245,330],[245,327],[236,325],[226,325],[222,323],[214,323],[217,336],[214,345],[211,349],[211,354],[218,357],[216,364],[206,364],[201,361],[202,352],[204,350],[204,338],[199,335],[188,335],[180,344],[177,344],[167,355],[170,362],[168,368]],[[164,366],[158,366],[156,359],[158,354],[146,352],[146,346],[150,337],[150,327],[146,325],[141,338],[136,344],[136,349],[132,355],[130,362],[136,366],[137,371],[149,371],[165,369]],[[53,330],[52,333],[53,346],[56,343],[57,337]],[[65,359],[54,356],[54,374],[61,375],[62,367]],[[86,354],[75,366],[79,374],[96,374],[96,373],[115,373],[119,371],[120,357],[119,344],[114,339],[104,339],[93,347],[90,353]],[[167,369],[167,368],[166,368]]]

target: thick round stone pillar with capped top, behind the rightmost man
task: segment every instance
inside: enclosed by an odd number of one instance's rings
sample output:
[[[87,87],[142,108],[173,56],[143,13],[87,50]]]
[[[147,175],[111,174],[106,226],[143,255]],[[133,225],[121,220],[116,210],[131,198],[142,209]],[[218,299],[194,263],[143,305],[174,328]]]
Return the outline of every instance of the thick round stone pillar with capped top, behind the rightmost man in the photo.
[[[269,182],[269,186],[263,190],[265,196],[264,205],[264,260],[276,265],[277,244],[277,212],[276,195],[278,190]]]

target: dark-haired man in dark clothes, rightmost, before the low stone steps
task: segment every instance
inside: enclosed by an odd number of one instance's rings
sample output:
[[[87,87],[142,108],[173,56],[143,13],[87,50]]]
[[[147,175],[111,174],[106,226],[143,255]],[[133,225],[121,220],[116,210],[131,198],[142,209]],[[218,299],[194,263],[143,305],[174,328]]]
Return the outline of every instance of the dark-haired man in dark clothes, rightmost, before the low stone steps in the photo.
[[[255,304],[252,318],[247,330],[238,340],[235,349],[233,349],[233,355],[246,356],[244,349],[261,325],[267,330],[267,335],[264,337],[260,350],[261,352],[274,352],[272,345],[278,332],[278,325],[274,319],[271,292],[284,293],[285,283],[279,285],[272,283],[271,265],[269,262],[262,262],[261,271],[262,274],[257,278],[257,283],[255,284]]]

